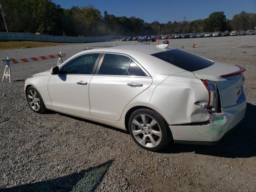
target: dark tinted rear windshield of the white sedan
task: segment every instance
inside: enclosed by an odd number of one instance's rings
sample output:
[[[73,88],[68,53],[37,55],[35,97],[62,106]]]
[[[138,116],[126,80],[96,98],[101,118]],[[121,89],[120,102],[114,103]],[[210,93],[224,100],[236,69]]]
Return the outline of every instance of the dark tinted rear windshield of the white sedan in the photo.
[[[162,59],[187,71],[201,70],[214,64],[214,62],[179,49],[155,53],[152,54],[152,56]]]

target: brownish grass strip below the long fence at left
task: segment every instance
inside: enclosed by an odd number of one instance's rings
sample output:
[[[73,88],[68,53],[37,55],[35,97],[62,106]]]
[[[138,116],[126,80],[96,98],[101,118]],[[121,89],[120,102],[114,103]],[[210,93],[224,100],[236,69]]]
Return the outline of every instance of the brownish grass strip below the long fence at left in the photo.
[[[0,41],[0,50],[19,49],[19,48],[33,48],[66,45],[70,43],[51,43],[51,42],[36,42],[36,41]]]

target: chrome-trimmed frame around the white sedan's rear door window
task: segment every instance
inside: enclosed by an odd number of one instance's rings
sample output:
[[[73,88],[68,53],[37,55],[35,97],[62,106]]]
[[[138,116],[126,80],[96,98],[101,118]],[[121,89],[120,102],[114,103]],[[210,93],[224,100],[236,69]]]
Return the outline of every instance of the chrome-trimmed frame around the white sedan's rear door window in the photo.
[[[117,53],[117,52],[103,52],[100,62],[98,64],[98,67],[96,69],[95,75],[101,75],[101,74],[99,74],[99,71],[100,71],[100,67],[101,67],[101,64],[102,64],[105,54],[117,54],[117,55],[123,55],[123,56],[130,58],[147,75],[147,76],[135,76],[135,77],[150,77],[150,78],[152,78],[151,75],[146,71],[146,69],[144,69],[144,67],[142,67],[141,64],[138,61],[136,61],[132,56],[124,54],[124,53]],[[131,61],[130,61],[130,63],[131,63]],[[130,63],[129,63],[128,69],[130,67]],[[127,77],[128,75],[106,75],[106,76],[125,76],[125,77]]]

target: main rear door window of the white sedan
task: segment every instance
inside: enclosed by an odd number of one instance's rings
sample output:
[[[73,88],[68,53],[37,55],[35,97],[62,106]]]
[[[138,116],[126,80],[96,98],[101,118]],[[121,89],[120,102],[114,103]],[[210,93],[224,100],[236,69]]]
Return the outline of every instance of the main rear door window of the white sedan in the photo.
[[[105,54],[100,75],[126,75],[131,59],[119,54]]]

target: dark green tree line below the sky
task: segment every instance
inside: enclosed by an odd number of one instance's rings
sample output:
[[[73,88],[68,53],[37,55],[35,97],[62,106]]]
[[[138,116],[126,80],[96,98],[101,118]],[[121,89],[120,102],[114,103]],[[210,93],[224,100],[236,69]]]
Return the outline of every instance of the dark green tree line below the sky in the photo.
[[[58,36],[102,36],[144,34],[174,34],[249,30],[256,27],[256,14],[241,12],[228,20],[224,12],[213,12],[206,19],[160,23],[145,22],[134,16],[116,17],[93,6],[61,8],[51,0],[0,0],[9,32],[36,33]],[[171,19],[171,15],[170,15]],[[0,31],[5,26],[0,16]]]

